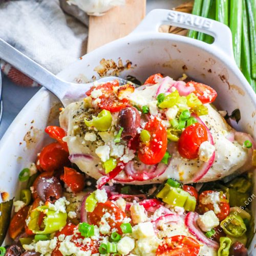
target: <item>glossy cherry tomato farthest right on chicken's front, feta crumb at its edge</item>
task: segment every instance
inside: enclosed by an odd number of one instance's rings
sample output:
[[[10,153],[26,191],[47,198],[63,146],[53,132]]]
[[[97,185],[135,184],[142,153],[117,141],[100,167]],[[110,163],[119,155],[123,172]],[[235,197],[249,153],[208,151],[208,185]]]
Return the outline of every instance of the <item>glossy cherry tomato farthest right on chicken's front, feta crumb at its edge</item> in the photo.
[[[198,157],[199,146],[208,138],[206,128],[201,123],[189,125],[178,141],[180,155],[187,159]]]

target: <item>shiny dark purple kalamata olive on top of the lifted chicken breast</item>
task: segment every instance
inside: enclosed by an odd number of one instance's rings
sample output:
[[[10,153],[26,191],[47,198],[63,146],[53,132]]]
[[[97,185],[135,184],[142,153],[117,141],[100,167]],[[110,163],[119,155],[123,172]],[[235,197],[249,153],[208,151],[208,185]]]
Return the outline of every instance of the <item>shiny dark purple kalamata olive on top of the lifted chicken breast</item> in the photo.
[[[123,127],[122,139],[130,140],[134,138],[138,127],[140,127],[139,111],[134,106],[122,109],[118,114],[117,124],[119,129]]]

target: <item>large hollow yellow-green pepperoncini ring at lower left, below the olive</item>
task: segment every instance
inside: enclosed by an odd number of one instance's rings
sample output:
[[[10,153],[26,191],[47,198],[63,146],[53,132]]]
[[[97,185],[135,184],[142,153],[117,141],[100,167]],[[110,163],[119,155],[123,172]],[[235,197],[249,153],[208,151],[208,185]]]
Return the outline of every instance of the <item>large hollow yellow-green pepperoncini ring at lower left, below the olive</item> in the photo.
[[[39,216],[44,214],[43,227],[39,227]],[[47,206],[39,206],[31,211],[28,228],[35,234],[50,234],[58,231],[67,223],[67,213],[50,210]],[[41,230],[42,229],[42,230]]]

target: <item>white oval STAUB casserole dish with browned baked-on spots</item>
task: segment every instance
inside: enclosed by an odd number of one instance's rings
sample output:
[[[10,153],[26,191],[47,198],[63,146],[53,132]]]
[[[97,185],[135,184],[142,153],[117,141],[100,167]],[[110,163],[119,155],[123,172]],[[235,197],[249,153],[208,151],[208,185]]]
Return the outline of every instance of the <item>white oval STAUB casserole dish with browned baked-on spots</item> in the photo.
[[[212,35],[215,41],[208,45],[184,36],[159,33],[162,24],[204,32]],[[93,76],[99,78],[94,69],[102,58],[112,59],[115,63],[122,60],[124,66],[126,60],[131,61],[129,69],[114,69],[124,78],[132,75],[143,81],[148,75],[163,73],[177,79],[186,73],[217,91],[218,109],[229,114],[239,109],[241,120],[239,123],[232,121],[232,126],[250,133],[255,139],[256,97],[234,62],[231,38],[229,28],[214,20],[169,10],[153,10],[130,35],[83,56],[58,76],[78,82],[87,82]],[[105,75],[113,74],[108,70]],[[0,192],[8,192],[10,198],[18,195],[18,174],[35,161],[36,154],[49,142],[44,129],[58,122],[59,106],[55,96],[41,89],[10,125],[0,142]],[[253,209],[256,209],[255,205],[252,202]],[[251,255],[255,240],[254,237]]]

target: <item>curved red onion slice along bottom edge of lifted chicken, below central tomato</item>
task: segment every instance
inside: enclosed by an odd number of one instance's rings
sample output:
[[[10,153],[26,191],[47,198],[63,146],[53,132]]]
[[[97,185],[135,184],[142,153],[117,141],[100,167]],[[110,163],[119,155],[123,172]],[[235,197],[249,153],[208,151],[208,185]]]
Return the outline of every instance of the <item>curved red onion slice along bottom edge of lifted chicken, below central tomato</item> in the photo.
[[[132,177],[136,181],[144,181],[154,179],[164,173],[167,165],[164,163],[158,163],[154,165],[147,165],[132,160],[128,162],[124,168],[124,172],[128,177]]]

